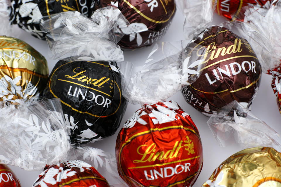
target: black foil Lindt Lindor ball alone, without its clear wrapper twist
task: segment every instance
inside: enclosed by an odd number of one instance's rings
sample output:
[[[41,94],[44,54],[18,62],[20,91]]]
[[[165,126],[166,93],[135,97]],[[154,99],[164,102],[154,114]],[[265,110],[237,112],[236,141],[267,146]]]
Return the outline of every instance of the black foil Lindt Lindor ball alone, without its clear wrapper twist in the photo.
[[[127,102],[116,63],[60,60],[49,76],[46,98],[60,98],[72,143],[89,143],[116,132]]]

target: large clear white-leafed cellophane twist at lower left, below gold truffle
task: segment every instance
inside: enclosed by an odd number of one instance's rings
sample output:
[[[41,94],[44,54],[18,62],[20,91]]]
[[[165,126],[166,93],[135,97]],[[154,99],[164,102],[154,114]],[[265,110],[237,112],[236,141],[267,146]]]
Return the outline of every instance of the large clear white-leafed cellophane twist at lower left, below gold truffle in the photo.
[[[33,171],[68,161],[75,163],[74,167],[83,167],[85,164],[79,165],[82,160],[93,166],[113,187],[125,185],[110,153],[88,146],[70,145],[69,124],[64,120],[59,99],[18,99],[13,104],[4,102],[3,106],[0,110],[0,163]],[[48,180],[50,176],[42,174],[45,182],[54,177]],[[40,184],[40,181],[35,184]]]

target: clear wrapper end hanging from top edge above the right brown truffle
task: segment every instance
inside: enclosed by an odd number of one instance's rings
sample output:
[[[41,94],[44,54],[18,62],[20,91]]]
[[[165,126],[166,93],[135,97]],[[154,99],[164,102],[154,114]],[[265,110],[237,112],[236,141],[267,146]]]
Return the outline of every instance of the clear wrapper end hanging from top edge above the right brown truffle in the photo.
[[[217,1],[213,3],[213,0],[179,0],[178,4],[185,15],[185,38],[193,39],[210,26]]]

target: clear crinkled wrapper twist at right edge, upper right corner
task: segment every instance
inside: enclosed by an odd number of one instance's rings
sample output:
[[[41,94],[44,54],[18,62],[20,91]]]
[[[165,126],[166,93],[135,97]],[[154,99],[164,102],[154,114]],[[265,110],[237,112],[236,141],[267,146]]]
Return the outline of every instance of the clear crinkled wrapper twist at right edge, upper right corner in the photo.
[[[281,8],[271,6],[262,15],[254,9],[245,12],[245,19],[249,22],[241,22],[244,32],[259,44],[260,63],[263,72],[270,73],[280,66],[281,59]]]

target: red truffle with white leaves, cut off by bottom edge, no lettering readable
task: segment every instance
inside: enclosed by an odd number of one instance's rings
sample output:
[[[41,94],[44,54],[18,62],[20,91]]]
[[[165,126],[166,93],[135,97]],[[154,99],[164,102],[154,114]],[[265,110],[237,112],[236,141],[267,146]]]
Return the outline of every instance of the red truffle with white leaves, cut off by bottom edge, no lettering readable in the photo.
[[[109,187],[103,176],[91,165],[81,161],[59,162],[46,166],[33,187]]]

